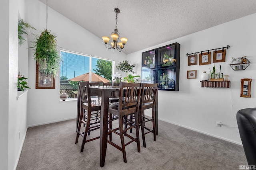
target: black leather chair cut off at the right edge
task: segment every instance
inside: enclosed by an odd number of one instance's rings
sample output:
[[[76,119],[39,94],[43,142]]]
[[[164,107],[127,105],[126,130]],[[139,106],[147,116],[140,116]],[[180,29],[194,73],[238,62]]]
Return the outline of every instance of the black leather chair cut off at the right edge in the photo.
[[[236,120],[248,165],[256,165],[256,108],[239,110]]]

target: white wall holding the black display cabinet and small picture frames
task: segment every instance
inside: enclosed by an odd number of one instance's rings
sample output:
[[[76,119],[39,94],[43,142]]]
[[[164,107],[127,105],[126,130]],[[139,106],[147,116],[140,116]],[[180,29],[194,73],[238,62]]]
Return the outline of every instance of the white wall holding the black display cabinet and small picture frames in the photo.
[[[241,145],[236,112],[256,106],[255,27],[256,14],[252,14],[127,55],[130,61],[137,60],[144,51],[180,43],[180,91],[159,91],[158,119]],[[214,63],[200,66],[198,58],[197,65],[188,66],[186,53],[227,45],[230,45],[230,48],[226,50],[226,62],[215,63],[215,67],[216,72],[219,72],[221,65],[221,72],[230,76],[231,88],[201,88],[201,74],[204,71],[210,72],[209,68],[212,70]],[[229,65],[231,57],[243,56],[247,56],[251,64],[246,70],[234,71]],[[136,63],[137,72],[141,72],[140,62]],[[197,78],[187,79],[187,70],[197,70]],[[241,78],[252,78],[251,98],[240,97]],[[222,127],[216,127],[216,121],[221,121]]]

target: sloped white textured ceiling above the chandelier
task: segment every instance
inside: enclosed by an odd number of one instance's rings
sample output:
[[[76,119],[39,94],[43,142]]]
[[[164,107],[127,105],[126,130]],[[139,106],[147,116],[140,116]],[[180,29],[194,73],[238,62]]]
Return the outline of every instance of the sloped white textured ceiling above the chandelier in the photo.
[[[48,0],[47,4],[100,38],[114,31],[114,8],[119,8],[117,29],[128,38],[122,50],[127,54],[256,13],[255,0]]]

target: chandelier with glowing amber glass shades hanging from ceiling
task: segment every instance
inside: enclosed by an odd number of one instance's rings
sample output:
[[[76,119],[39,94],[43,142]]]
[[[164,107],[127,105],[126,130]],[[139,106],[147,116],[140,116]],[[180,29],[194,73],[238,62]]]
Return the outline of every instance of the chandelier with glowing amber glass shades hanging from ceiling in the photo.
[[[116,12],[116,25],[117,25],[117,14],[120,13],[120,10],[118,8],[115,8],[114,12]],[[122,49],[124,48],[124,45],[128,41],[128,39],[125,38],[125,37],[122,37],[122,38],[120,38],[121,42],[118,42],[119,37],[120,37],[120,33],[118,33],[118,29],[114,29],[114,32],[112,32],[110,36],[111,36],[112,41],[113,41],[111,43],[108,43],[108,41],[110,40],[109,37],[107,37],[107,36],[103,36],[102,37],[106,47],[108,49],[112,49],[113,48],[114,51],[115,51],[115,49],[117,49],[117,51],[121,52]]]

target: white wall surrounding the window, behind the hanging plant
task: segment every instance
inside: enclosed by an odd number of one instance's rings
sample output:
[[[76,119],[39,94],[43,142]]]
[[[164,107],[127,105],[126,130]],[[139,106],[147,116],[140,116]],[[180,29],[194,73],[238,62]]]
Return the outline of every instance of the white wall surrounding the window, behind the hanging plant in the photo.
[[[32,30],[33,33],[39,35],[46,27],[46,6],[38,0],[25,0],[25,4],[25,20],[37,29],[37,31]],[[47,29],[56,34],[60,49],[112,59],[116,64],[125,59],[124,53],[118,51],[113,53],[113,50],[105,47],[101,38],[96,37],[49,7]],[[34,37],[28,37],[28,41],[32,39]],[[28,83],[31,89],[28,91],[28,126],[76,117],[76,101],[59,102],[59,74],[56,76],[56,89],[35,89],[35,79],[36,62],[32,49],[29,49]]]

